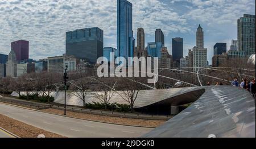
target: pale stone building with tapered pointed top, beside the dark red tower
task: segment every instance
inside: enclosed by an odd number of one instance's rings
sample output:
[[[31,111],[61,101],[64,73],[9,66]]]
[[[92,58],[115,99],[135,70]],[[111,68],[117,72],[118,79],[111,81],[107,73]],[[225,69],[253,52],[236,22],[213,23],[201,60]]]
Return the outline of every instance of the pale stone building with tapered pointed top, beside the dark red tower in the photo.
[[[17,77],[17,64],[18,61],[16,60],[16,54],[14,49],[11,49],[6,63],[6,76]]]

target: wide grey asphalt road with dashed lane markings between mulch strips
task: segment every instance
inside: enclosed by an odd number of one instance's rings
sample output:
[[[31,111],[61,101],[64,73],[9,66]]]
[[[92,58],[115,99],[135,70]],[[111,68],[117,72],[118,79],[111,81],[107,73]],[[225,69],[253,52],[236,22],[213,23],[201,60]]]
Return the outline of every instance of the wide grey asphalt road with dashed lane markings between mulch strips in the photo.
[[[152,130],[62,117],[1,103],[0,114],[69,138],[136,138]]]

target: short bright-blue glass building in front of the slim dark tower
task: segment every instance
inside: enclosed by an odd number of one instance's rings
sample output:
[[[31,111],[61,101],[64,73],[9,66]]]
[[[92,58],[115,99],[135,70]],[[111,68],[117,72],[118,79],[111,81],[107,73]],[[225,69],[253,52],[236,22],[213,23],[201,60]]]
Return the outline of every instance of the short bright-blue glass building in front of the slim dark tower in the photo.
[[[147,43],[147,54],[151,57],[161,57],[161,49],[163,45],[161,42],[159,43]]]

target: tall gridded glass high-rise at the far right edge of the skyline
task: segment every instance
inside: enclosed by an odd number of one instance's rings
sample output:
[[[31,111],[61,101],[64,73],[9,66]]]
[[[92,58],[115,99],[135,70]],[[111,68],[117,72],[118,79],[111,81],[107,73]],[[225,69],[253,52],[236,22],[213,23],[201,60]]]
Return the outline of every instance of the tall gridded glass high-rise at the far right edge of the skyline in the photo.
[[[246,57],[255,54],[255,15],[244,14],[237,20],[238,50]]]

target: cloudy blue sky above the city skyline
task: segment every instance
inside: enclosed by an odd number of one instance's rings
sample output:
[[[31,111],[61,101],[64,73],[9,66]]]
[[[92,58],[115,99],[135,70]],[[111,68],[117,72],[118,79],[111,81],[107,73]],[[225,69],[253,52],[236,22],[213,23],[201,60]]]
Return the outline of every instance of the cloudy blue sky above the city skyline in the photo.
[[[184,56],[195,46],[196,28],[204,28],[205,48],[211,63],[216,42],[237,39],[237,19],[255,14],[255,0],[130,0],[133,30],[143,27],[146,43],[154,42],[154,31],[162,28],[166,46],[184,38]],[[30,58],[39,60],[65,53],[65,32],[99,27],[104,47],[117,47],[116,0],[0,0],[0,53],[10,52],[10,43],[30,41]]]

